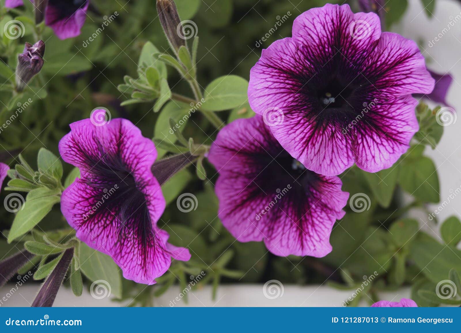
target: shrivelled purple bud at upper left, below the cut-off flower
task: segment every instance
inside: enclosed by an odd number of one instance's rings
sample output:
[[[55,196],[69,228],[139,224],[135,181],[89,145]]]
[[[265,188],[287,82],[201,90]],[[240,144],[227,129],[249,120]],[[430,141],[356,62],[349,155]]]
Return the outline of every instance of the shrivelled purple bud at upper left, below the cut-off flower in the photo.
[[[24,90],[26,84],[41,71],[43,67],[43,55],[45,43],[38,41],[34,45],[25,43],[24,52],[18,55],[18,67],[16,67],[16,89]]]

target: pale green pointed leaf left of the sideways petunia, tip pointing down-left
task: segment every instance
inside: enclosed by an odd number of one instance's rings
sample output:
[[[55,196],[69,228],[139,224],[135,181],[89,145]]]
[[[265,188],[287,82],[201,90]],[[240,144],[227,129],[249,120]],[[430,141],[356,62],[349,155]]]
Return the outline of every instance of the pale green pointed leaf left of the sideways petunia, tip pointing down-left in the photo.
[[[41,189],[32,190],[30,193],[38,190]],[[34,195],[35,193],[32,197],[34,197]],[[35,227],[48,214],[51,208],[53,208],[53,205],[60,201],[60,199],[61,198],[59,196],[44,196],[30,200],[28,195],[26,202],[13,220],[13,224],[8,235],[8,243],[11,243],[14,239],[19,238]]]

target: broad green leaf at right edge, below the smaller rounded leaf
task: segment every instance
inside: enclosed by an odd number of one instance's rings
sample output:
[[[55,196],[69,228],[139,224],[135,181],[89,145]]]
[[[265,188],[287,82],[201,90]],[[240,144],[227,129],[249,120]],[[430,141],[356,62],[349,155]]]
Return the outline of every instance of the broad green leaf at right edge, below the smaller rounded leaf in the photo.
[[[421,273],[434,283],[447,279],[452,268],[461,272],[461,251],[438,243],[424,232],[412,242],[409,256]]]

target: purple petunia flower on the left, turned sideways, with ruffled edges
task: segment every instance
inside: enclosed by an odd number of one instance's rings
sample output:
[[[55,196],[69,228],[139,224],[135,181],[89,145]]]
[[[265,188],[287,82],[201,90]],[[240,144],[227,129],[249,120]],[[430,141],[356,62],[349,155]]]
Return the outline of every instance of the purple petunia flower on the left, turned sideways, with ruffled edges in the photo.
[[[167,271],[171,257],[189,260],[189,250],[167,243],[168,233],[157,226],[165,199],[151,171],[154,143],[126,119],[70,126],[59,152],[81,178],[64,190],[61,210],[77,238],[111,256],[126,279],[148,285]]]

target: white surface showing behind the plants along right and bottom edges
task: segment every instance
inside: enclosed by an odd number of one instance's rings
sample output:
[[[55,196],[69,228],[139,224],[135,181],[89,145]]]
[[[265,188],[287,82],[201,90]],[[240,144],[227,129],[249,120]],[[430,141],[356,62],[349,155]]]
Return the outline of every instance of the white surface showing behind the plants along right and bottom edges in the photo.
[[[402,22],[394,27],[394,31],[417,42],[423,41],[426,49],[424,56],[428,59],[428,67],[440,73],[450,72],[454,82],[449,91],[448,101],[456,110],[461,110],[461,20],[455,22],[456,16],[461,16],[461,5],[454,0],[437,0],[435,17],[428,19],[421,6],[420,0],[408,0],[409,9]],[[453,26],[443,33],[443,29]],[[430,48],[429,41],[437,35],[443,34],[435,45]],[[431,156],[437,166],[441,183],[441,201],[447,200],[455,190],[461,186],[461,119],[455,124],[445,127],[443,138],[437,149],[427,149],[426,154]],[[430,210],[437,208],[433,205]],[[437,218],[443,221],[455,214],[461,216],[461,196],[455,197],[448,207],[444,208]],[[438,227],[423,216],[421,224],[426,229],[437,233]],[[431,231],[429,231],[431,232]],[[434,235],[433,233],[433,235]],[[0,289],[3,297],[14,285],[7,285]],[[12,297],[2,306],[30,306],[38,290],[36,284],[26,284],[18,288]],[[215,301],[211,299],[210,288],[189,293],[190,306],[342,306],[343,301],[351,296],[351,291],[337,291],[326,285],[321,286],[290,286],[284,285],[284,293],[276,299],[267,299],[263,294],[262,285],[223,285],[219,287]],[[155,300],[156,306],[170,306],[171,301],[179,296],[179,287],[173,286],[162,297]],[[408,290],[382,294],[388,300],[400,300],[409,297]],[[183,306],[177,302],[175,306]],[[83,296],[75,297],[69,289],[61,288],[54,306],[120,306],[120,303],[110,299],[94,299],[88,291]]]

